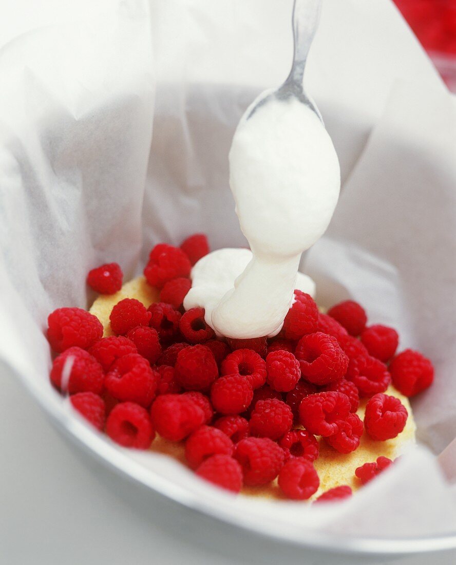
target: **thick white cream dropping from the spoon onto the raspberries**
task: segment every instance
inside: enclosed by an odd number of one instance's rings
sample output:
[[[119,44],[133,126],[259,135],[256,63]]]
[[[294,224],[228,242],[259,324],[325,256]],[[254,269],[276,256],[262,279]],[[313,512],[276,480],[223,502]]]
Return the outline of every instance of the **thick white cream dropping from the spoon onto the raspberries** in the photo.
[[[260,95],[263,97],[264,94]],[[279,333],[298,288],[314,282],[298,273],[303,251],[325,232],[340,191],[336,151],[322,122],[296,98],[274,99],[234,133],[229,182],[250,249],[220,249],[193,267],[186,310],[205,308],[220,336]]]

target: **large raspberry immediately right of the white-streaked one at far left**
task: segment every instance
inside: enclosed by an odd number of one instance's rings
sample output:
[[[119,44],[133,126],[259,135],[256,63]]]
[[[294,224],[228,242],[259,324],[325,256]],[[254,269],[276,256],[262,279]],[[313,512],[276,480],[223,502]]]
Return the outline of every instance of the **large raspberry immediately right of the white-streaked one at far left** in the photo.
[[[121,402],[150,406],[155,398],[160,375],[150,368],[144,357],[131,353],[120,357],[105,377],[108,393]]]

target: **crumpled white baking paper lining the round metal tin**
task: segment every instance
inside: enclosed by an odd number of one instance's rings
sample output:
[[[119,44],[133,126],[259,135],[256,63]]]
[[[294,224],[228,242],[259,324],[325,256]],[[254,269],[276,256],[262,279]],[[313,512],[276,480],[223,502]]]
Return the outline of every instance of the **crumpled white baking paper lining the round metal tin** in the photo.
[[[62,421],[47,314],[88,306],[85,275],[205,231],[244,245],[228,188],[238,119],[288,73],[292,0],[81,3],[0,50],[0,359]],[[412,401],[422,446],[335,507],[231,497],[170,458],[128,457],[237,523],[375,537],[456,532],[436,454],[456,435],[456,104],[388,0],[324,0],[306,88],[344,185],[305,270],[436,366]],[[95,441],[95,440],[94,440]],[[99,438],[97,441],[107,441]],[[112,449],[119,449],[112,447]],[[454,453],[442,455],[455,477]]]

